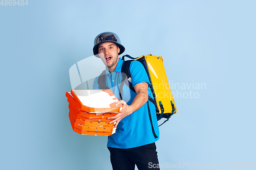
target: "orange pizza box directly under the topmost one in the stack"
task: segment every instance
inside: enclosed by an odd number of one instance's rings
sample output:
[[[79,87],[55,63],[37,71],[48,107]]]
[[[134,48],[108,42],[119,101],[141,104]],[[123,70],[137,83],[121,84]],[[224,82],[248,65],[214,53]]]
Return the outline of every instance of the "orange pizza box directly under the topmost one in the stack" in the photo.
[[[80,114],[83,117],[87,118],[104,118],[104,117],[112,117],[115,116],[117,113],[87,113],[79,110],[76,105],[72,104],[72,101],[68,99],[69,107],[71,107],[74,111],[76,111],[78,114]]]

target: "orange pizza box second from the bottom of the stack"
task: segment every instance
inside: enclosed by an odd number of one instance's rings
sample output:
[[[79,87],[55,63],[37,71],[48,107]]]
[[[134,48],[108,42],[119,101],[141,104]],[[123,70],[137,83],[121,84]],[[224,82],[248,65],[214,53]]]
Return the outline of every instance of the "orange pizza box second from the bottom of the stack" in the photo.
[[[83,126],[75,122],[72,115],[69,114],[71,126],[82,131],[94,131],[94,132],[112,132],[114,126]]]

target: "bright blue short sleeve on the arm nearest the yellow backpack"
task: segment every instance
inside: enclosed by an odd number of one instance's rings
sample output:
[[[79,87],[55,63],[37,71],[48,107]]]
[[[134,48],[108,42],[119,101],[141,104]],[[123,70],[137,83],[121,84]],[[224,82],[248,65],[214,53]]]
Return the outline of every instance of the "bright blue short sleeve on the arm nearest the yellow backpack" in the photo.
[[[148,80],[146,70],[139,61],[131,62],[130,72],[133,81],[133,87],[139,83],[148,83],[148,87],[150,87],[150,81]]]

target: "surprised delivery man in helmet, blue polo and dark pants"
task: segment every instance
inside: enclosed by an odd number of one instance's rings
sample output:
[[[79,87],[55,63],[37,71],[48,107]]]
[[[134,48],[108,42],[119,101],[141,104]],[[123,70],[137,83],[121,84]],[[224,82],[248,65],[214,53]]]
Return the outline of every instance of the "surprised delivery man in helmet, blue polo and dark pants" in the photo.
[[[106,65],[105,85],[119,97],[120,83],[123,80],[121,68],[123,60],[119,55],[125,48],[119,37],[112,32],[104,32],[96,36],[93,53],[100,57]],[[108,149],[113,169],[152,169],[152,164],[158,164],[155,141],[159,139],[159,129],[155,106],[148,101],[148,95],[153,98],[150,81],[146,71],[139,61],[130,65],[132,84],[136,91],[132,91],[126,84],[121,89],[119,103],[122,110],[111,123],[116,122],[116,133],[109,136]],[[93,88],[99,89],[99,77],[94,81]],[[150,112],[149,110],[150,109]],[[157,168],[159,169],[159,168]]]

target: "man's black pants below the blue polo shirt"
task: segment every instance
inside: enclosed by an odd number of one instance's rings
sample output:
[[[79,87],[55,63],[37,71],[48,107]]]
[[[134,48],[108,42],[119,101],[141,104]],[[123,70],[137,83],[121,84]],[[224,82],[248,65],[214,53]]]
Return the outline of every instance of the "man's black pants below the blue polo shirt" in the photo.
[[[153,164],[159,164],[155,143],[130,149],[108,149],[113,170],[132,170],[135,169],[135,164],[139,170],[159,169],[152,167]]]

